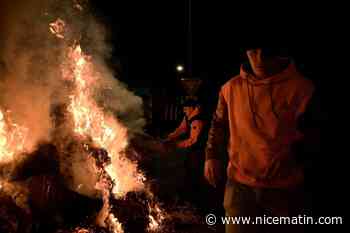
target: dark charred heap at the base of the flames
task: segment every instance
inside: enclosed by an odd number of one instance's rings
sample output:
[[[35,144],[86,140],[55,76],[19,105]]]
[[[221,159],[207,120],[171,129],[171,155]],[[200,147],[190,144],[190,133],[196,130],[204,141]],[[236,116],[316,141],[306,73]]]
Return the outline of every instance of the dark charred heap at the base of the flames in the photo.
[[[64,156],[69,156],[69,148],[81,143],[83,142],[72,140],[64,151]],[[93,146],[89,147],[89,150],[96,166],[103,167],[110,163],[105,150]],[[102,198],[91,198],[67,187],[63,179],[64,174],[59,169],[60,156],[62,158],[60,151],[55,144],[40,145],[35,152],[25,155],[26,159],[6,181],[7,188],[0,185],[0,233],[110,232],[109,229],[98,227],[95,223],[96,216],[103,207]],[[155,200],[155,196],[162,196],[164,190],[175,194],[175,189],[171,189],[175,188],[173,183],[166,182],[167,176],[155,172],[158,170],[155,164],[164,164],[171,156],[164,155],[165,153],[168,152],[159,149],[159,143],[152,138],[139,136],[131,141],[126,154],[128,159],[137,161],[146,173],[148,191],[129,192],[122,199],[115,199],[111,195],[111,212],[122,224],[125,233],[147,232],[152,211],[150,206],[159,201]],[[169,177],[174,177],[174,171],[175,168],[167,168],[164,172],[169,173]],[[166,183],[169,184],[165,185]],[[150,197],[150,193],[155,196]],[[164,203],[164,200],[160,201]],[[190,205],[187,205],[186,211],[179,205],[173,208],[169,203],[165,202],[165,205],[168,206],[167,213],[164,213],[165,226],[159,232],[178,232],[177,226],[182,223],[201,224]]]

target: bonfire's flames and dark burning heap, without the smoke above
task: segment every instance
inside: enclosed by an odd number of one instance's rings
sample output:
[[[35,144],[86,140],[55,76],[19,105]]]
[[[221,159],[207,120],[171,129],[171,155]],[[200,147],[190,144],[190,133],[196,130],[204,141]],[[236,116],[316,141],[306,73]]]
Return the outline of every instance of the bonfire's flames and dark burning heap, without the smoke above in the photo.
[[[84,12],[78,1],[71,3],[76,14]],[[84,52],[84,35],[72,20],[57,17],[46,26],[58,44],[57,73],[65,91],[56,91],[61,101],[50,105],[50,137],[35,146],[33,126],[17,123],[0,105],[0,232],[173,232],[174,218],[141,169],[152,153],[169,151],[137,136],[98,101],[101,83],[108,90],[113,82]],[[141,139],[144,152],[151,148],[148,160],[130,145],[132,138]],[[186,215],[185,221],[199,222]]]

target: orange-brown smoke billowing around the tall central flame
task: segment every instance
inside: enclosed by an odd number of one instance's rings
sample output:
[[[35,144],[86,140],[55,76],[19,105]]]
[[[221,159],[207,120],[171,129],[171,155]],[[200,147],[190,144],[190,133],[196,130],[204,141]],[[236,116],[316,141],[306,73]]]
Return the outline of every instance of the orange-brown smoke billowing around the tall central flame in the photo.
[[[41,143],[57,139],[53,114],[57,106],[68,105],[72,91],[72,85],[62,78],[61,67],[67,59],[67,47],[74,43],[80,43],[83,52],[92,57],[101,77],[91,86],[99,107],[124,125],[129,137],[141,132],[145,125],[142,99],[118,81],[107,66],[106,59],[112,51],[106,43],[107,30],[89,14],[87,2],[77,3],[77,0],[0,2],[0,109],[9,110],[12,121],[28,129],[24,146],[27,153]],[[64,40],[49,30],[49,24],[58,18],[67,26]],[[78,188],[82,193],[95,196],[96,177],[85,175],[95,173],[93,161],[75,154],[71,161],[61,161],[63,168],[72,173],[71,185],[77,188],[81,184]]]

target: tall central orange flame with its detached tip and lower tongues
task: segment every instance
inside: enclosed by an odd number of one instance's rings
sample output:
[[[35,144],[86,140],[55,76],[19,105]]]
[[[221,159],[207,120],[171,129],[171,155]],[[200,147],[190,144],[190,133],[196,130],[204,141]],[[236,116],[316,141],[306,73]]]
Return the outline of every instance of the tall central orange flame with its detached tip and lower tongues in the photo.
[[[50,31],[63,39],[64,27],[64,22],[58,19],[50,24]],[[96,146],[108,152],[111,164],[105,167],[105,171],[114,182],[112,193],[117,198],[125,196],[130,191],[144,189],[146,178],[138,171],[137,164],[128,160],[123,152],[128,145],[127,128],[111,113],[105,112],[98,106],[93,98],[94,87],[103,76],[96,72],[91,57],[84,54],[79,45],[68,48],[67,58],[67,61],[62,64],[62,78],[75,85],[69,96],[68,106],[73,119],[74,133],[82,138],[91,138]],[[99,185],[101,184],[96,184],[96,188],[103,190]],[[109,192],[104,191],[104,196],[109,196]],[[104,202],[109,211],[108,201],[104,200]],[[161,229],[165,217],[158,205],[153,208],[149,206],[149,208],[151,214],[148,230],[156,232]],[[114,233],[123,233],[121,223],[112,213],[109,213],[106,218]]]

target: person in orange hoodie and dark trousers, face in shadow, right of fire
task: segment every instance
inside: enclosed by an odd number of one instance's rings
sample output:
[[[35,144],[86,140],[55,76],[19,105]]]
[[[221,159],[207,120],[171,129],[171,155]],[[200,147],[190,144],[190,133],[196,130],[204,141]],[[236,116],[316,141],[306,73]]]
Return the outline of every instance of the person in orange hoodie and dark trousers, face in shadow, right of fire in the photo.
[[[248,63],[221,87],[206,147],[204,175],[216,186],[227,149],[224,208],[230,217],[305,213],[304,164],[297,145],[314,84],[279,49],[246,49]],[[306,131],[305,131],[306,132]],[[226,145],[226,146],[223,146]],[[299,147],[300,148],[300,147]],[[302,225],[227,224],[226,233],[302,232]],[[264,229],[272,227],[271,229]]]

